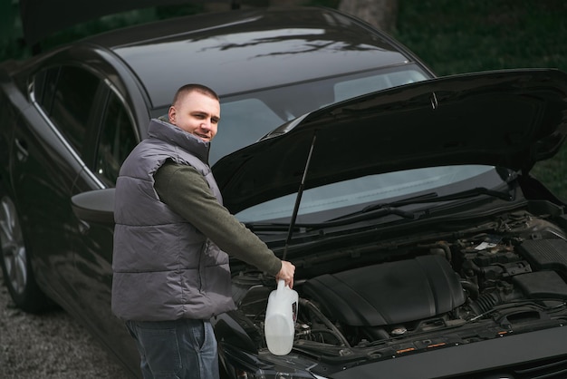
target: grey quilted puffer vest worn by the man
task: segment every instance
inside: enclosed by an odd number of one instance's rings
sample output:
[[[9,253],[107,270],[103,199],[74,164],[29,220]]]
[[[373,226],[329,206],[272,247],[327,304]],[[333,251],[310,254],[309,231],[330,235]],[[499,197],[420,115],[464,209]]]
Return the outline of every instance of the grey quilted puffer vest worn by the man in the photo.
[[[112,312],[125,320],[208,319],[234,309],[228,256],[159,200],[153,174],[168,159],[196,168],[222,204],[208,142],[149,123],[120,168],[114,206]]]

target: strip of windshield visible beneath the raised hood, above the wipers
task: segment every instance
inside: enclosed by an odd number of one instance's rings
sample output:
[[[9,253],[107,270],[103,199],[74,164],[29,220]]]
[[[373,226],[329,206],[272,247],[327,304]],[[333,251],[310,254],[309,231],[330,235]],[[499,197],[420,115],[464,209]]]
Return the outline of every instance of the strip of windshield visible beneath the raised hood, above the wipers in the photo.
[[[478,187],[493,189],[502,183],[494,167],[483,165],[429,167],[369,175],[304,190],[297,220],[322,222],[377,201],[389,202],[431,191],[441,196]],[[246,223],[285,222],[293,214],[296,197],[293,193],[271,199],[235,216]]]

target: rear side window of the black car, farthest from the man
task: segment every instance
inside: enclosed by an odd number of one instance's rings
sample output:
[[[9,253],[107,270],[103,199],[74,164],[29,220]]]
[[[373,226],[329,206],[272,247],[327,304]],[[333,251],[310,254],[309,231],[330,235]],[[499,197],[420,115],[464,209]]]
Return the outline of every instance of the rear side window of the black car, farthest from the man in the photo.
[[[72,148],[82,155],[99,83],[80,67],[62,66],[36,76],[36,100]]]

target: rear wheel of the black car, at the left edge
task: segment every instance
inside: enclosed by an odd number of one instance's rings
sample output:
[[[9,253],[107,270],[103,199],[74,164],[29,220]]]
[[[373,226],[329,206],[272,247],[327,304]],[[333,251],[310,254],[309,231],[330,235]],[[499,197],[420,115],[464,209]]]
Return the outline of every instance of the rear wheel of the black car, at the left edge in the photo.
[[[0,244],[2,273],[15,305],[32,313],[48,308],[47,296],[35,283],[14,202],[7,196],[0,200]]]

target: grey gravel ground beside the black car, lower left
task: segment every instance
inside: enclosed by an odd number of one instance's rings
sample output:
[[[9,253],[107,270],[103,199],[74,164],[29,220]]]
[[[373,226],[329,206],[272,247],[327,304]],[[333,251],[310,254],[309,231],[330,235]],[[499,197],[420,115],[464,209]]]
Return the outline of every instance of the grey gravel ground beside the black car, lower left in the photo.
[[[0,378],[127,378],[66,312],[30,315],[14,306],[0,270]]]

